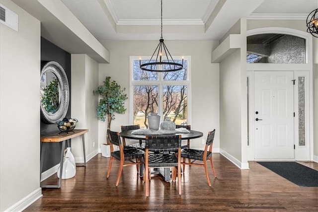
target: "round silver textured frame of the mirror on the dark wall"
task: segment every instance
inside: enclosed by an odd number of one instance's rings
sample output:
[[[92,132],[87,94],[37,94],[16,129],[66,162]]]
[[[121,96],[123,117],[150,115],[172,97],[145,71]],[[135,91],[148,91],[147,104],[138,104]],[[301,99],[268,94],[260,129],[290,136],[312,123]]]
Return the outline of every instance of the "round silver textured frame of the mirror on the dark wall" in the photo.
[[[55,61],[50,61],[44,65],[44,67],[41,70],[40,79],[42,79],[42,76],[49,71],[53,72],[59,81],[60,103],[59,103],[58,110],[52,114],[52,113],[48,113],[43,108],[42,103],[40,101],[41,114],[45,119],[44,121],[46,121],[48,124],[56,124],[57,121],[63,120],[63,118],[66,116],[68,112],[69,103],[70,103],[69,80],[62,66]]]

